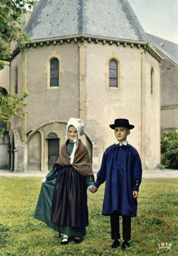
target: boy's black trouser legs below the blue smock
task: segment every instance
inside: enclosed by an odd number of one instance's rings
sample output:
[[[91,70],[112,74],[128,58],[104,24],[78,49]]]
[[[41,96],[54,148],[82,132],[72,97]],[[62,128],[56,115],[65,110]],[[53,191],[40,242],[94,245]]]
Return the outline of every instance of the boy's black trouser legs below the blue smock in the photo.
[[[123,239],[129,241],[131,239],[131,217],[122,215],[123,218]],[[111,222],[111,239],[120,239],[119,233],[119,213],[114,211],[110,215]]]

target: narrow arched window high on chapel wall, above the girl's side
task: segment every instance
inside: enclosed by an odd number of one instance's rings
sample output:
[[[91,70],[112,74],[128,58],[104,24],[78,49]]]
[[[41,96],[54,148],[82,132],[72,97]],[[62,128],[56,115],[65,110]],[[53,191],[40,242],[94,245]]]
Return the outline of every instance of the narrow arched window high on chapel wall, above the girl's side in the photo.
[[[59,86],[59,60],[52,59],[50,62],[50,87]]]

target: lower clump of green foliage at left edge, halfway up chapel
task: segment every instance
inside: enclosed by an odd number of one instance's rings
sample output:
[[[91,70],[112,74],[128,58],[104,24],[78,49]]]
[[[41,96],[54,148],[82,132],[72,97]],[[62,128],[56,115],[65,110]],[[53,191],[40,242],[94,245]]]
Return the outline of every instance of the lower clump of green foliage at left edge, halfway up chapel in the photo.
[[[28,93],[24,93],[22,98],[19,98],[18,94],[7,93],[4,95],[3,89],[0,88],[0,120],[2,124],[7,124],[11,121],[12,116],[24,115],[23,107],[26,106],[25,98]],[[0,126],[0,137],[3,137],[4,127]]]

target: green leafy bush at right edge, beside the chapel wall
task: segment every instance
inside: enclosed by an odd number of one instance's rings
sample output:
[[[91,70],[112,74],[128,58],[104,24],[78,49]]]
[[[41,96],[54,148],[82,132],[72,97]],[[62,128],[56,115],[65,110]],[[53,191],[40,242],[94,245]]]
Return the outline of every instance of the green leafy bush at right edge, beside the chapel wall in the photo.
[[[161,164],[171,169],[178,169],[178,129],[161,132]]]

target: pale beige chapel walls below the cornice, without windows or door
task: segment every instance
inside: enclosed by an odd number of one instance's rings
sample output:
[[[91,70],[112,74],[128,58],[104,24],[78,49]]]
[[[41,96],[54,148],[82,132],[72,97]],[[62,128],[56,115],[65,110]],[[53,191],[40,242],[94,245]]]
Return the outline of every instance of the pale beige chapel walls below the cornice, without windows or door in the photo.
[[[60,63],[58,87],[49,84],[53,58]],[[118,62],[118,87],[109,87],[111,59]],[[18,90],[29,93],[26,118],[14,117],[11,122],[11,132],[18,130],[22,138],[21,144],[15,145],[17,170],[27,170],[27,162],[29,171],[48,170],[47,136],[54,132],[60,148],[70,117],[80,117],[86,124],[82,140],[92,154],[94,171],[100,168],[104,150],[116,142],[109,127],[116,118],[127,118],[135,125],[128,142],[139,151],[143,169],[159,165],[159,62],[142,47],[102,41],[42,43],[29,47],[26,55],[19,53],[11,65],[12,90],[18,66]]]

